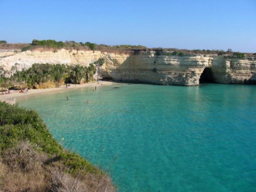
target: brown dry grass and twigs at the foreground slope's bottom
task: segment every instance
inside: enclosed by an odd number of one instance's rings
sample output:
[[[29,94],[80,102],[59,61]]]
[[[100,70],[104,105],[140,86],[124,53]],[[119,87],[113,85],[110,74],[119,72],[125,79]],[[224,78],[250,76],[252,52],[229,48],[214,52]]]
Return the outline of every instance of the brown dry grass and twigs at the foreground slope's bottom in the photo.
[[[67,170],[67,171],[65,171]],[[115,192],[107,175],[69,173],[58,157],[39,153],[21,142],[0,158],[0,191],[3,192]]]

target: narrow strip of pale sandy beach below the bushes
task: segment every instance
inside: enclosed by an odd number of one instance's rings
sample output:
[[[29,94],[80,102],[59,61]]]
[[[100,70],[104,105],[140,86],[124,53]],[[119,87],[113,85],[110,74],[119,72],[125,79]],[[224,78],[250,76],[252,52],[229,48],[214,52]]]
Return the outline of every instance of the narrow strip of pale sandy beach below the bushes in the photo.
[[[70,84],[70,86],[68,86],[66,88],[65,85],[60,86],[59,88],[49,88],[49,89],[30,89],[28,90],[28,92],[26,93],[20,93],[20,90],[15,90],[12,91],[9,94],[1,94],[0,95],[0,101],[12,101],[14,99],[10,99],[10,98],[15,98],[15,102],[19,102],[22,101],[24,99],[29,99],[31,97],[35,97],[37,95],[41,95],[41,94],[53,94],[53,93],[60,93],[60,92],[64,92],[64,91],[68,91],[68,90],[74,90],[74,89],[81,89],[84,87],[93,87],[93,89],[95,89],[95,86],[98,87],[102,87],[102,86],[107,86],[107,85],[112,85],[112,84],[118,84],[116,82],[112,82],[112,81],[102,81],[100,83],[98,82],[90,82],[90,83],[86,83],[86,84]]]

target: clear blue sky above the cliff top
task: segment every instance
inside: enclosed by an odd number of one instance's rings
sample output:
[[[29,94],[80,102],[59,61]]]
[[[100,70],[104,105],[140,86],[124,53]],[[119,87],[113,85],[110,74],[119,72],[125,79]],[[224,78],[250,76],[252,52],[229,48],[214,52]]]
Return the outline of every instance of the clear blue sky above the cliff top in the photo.
[[[0,40],[256,52],[256,0],[0,0]]]

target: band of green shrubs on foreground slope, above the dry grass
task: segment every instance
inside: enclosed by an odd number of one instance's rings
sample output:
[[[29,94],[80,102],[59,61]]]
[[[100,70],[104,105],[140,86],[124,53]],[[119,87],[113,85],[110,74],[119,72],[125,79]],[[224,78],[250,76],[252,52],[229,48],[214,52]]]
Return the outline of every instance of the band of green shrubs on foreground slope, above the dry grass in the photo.
[[[29,142],[35,150],[59,157],[72,173],[104,174],[78,154],[65,151],[34,110],[0,102],[0,153],[4,154],[21,142]]]

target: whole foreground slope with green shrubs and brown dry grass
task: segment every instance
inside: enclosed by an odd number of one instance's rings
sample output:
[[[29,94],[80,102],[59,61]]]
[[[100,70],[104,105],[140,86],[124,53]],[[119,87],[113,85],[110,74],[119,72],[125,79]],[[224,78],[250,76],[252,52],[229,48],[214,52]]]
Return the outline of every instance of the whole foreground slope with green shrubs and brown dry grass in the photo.
[[[104,172],[64,150],[34,110],[0,102],[0,191],[114,191]]]

